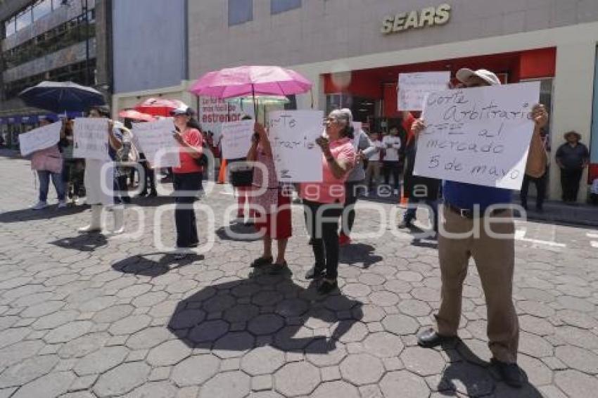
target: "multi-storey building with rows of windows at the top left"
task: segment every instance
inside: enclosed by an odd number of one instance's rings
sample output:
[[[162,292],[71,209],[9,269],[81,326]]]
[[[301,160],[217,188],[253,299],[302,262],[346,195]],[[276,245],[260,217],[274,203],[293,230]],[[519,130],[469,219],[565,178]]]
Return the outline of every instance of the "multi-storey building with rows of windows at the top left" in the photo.
[[[15,146],[18,134],[47,114],[20,101],[17,95],[23,89],[52,80],[110,91],[109,4],[13,0],[0,7],[0,132],[8,146]]]

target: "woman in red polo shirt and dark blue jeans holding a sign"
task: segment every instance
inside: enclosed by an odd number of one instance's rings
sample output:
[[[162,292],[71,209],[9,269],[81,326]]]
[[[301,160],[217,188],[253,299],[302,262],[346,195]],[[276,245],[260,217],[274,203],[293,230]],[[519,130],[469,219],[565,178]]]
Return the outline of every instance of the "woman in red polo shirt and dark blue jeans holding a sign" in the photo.
[[[189,250],[196,248],[199,239],[197,236],[197,225],[193,202],[202,189],[203,167],[198,163],[203,153],[201,133],[192,118],[193,110],[184,106],[172,110],[170,113],[174,118],[174,125],[178,131],[174,131],[174,139],[179,143],[180,167],[172,167],[174,186],[174,201],[177,203],[174,210],[174,222],[177,224],[177,248]],[[184,259],[186,252],[176,255],[177,259]]]

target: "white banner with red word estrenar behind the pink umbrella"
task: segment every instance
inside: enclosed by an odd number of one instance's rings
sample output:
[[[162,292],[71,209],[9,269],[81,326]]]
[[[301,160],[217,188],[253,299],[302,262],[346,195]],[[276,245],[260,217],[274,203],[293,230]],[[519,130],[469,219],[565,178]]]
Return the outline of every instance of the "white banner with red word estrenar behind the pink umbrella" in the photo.
[[[245,115],[254,120],[253,104],[241,107],[241,101],[224,101],[222,98],[199,97],[199,124],[203,132],[212,131],[214,142],[221,138],[222,123],[238,122]]]

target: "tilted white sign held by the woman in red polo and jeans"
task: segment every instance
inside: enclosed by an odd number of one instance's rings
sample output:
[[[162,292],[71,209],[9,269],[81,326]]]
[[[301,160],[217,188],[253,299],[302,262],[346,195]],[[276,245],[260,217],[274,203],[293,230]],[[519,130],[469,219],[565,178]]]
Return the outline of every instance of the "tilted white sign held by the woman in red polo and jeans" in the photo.
[[[133,127],[133,136],[139,143],[141,152],[146,155],[151,167],[179,167],[179,144],[172,136],[174,122],[166,118],[154,122],[137,123]]]

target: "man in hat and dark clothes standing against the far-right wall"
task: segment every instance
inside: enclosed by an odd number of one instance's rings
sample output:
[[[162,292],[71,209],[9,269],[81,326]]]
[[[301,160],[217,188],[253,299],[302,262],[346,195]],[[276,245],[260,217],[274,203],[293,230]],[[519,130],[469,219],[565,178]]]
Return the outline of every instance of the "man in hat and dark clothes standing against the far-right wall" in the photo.
[[[566,143],[556,150],[556,164],[561,168],[561,187],[566,203],[577,200],[579,181],[590,160],[590,152],[587,146],[579,142],[580,139],[581,135],[577,131],[568,131],[565,133]]]

